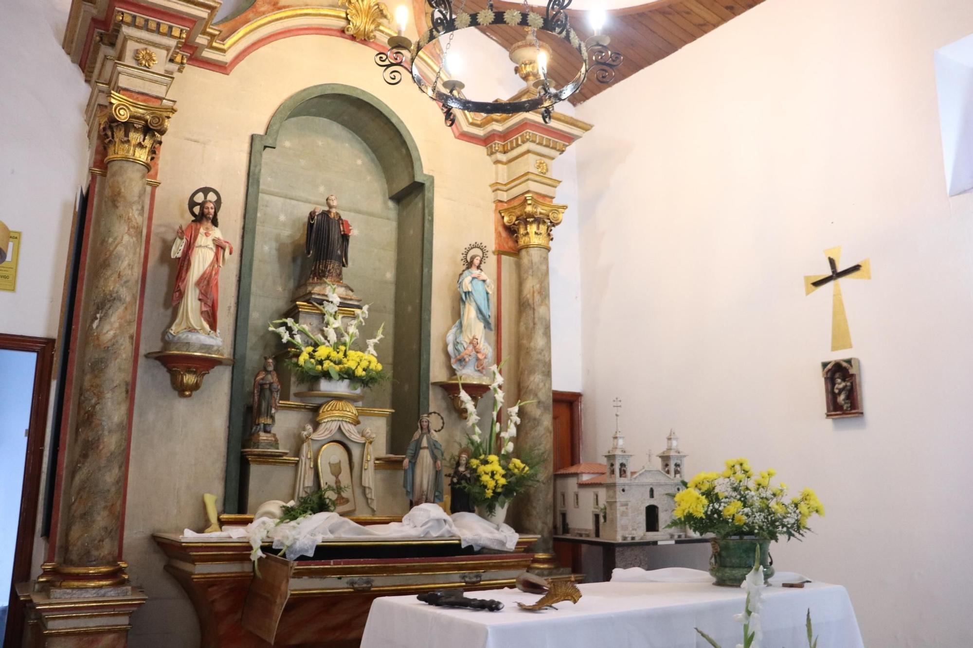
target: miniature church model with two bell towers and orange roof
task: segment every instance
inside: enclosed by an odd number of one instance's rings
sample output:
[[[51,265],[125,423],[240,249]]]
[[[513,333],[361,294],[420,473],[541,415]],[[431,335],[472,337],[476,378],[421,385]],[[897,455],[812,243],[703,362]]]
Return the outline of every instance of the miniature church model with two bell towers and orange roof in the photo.
[[[651,452],[646,465],[631,469],[631,453],[617,424],[604,456],[607,463],[579,463],[555,473],[557,532],[613,541],[686,536],[685,528],[666,528],[675,508],[671,495],[682,489],[686,459],[674,431],[658,455],[661,469],[652,465]]]

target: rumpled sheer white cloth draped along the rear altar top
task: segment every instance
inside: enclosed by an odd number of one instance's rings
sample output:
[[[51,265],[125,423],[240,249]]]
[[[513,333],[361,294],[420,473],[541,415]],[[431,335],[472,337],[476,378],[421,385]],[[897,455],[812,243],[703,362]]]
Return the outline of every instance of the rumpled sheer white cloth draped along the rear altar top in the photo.
[[[513,551],[519,537],[507,524],[497,526],[473,513],[456,513],[451,517],[437,504],[420,504],[406,514],[402,522],[363,526],[342,518],[337,513],[317,513],[294,522],[277,524],[270,518],[255,520],[246,526],[232,526],[225,531],[197,533],[183,531],[190,538],[246,538],[253,547],[251,558],[264,555],[261,543],[270,541],[274,549],[283,549],[284,558],[313,556],[314,547],[326,538],[444,538],[459,537],[460,545],[479,550],[484,547]]]

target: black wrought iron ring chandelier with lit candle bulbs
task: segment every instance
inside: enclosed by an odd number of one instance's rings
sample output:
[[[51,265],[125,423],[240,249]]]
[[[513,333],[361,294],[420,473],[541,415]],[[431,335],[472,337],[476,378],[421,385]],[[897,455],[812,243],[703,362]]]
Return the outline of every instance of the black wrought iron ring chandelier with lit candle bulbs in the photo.
[[[453,10],[452,0],[426,0],[431,10],[430,22],[432,27],[425,31],[416,43],[404,35],[409,19],[408,10],[400,6],[395,12],[399,33],[388,39],[388,51],[379,52],[375,61],[382,68],[382,78],[390,86],[397,86],[404,75],[410,75],[415,85],[424,94],[441,105],[446,126],[452,126],[455,121],[453,109],[458,108],[474,113],[487,115],[526,113],[540,110],[541,117],[546,124],[551,122],[552,107],[559,101],[578,91],[585,83],[589,73],[594,72],[595,81],[607,85],[615,78],[615,68],[622,64],[623,56],[608,49],[610,39],[600,34],[600,25],[595,24],[595,35],[582,41],[577,32],[571,27],[565,10],[571,0],[548,0],[547,9],[541,15],[523,2],[523,11],[508,9],[498,12],[493,10],[493,1],[488,0],[486,9],[475,14],[464,12],[466,0],[460,0],[457,11]],[[537,8],[539,9],[539,8]],[[470,27],[486,25],[507,25],[525,27],[528,40],[537,48],[537,68],[540,79],[534,81],[535,96],[511,101],[476,101],[467,99],[460,94],[463,83],[455,79],[442,81],[444,67],[450,53],[452,37],[456,31]],[[547,77],[547,46],[542,45],[537,38],[537,32],[544,31],[563,39],[580,57],[580,67],[574,78],[566,85],[555,89]],[[419,74],[416,64],[422,50],[437,39],[449,34],[443,55],[440,58],[436,76],[432,82],[425,81]]]

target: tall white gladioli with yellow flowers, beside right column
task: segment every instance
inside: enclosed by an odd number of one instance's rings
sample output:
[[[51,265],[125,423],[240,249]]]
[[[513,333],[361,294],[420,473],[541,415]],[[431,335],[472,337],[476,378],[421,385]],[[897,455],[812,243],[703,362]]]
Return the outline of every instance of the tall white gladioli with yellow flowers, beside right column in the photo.
[[[531,464],[536,465],[539,458],[529,450],[521,452],[521,457],[513,455],[514,439],[517,437],[517,426],[521,423],[518,416],[521,408],[532,401],[518,401],[517,405],[507,408],[507,427],[500,425],[500,404],[503,403],[503,376],[500,367],[493,365],[490,372],[493,378],[489,389],[493,394],[493,414],[490,416],[490,429],[484,434],[477,422],[480,416],[477,408],[463,390],[462,381],[459,383],[459,399],[466,410],[466,424],[471,432],[466,435],[470,446],[470,468],[476,471],[476,477],[462,487],[470,494],[470,499],[486,509],[486,514],[492,516],[497,507],[504,507],[517,493],[533,486],[540,480],[540,476],[532,472]]]

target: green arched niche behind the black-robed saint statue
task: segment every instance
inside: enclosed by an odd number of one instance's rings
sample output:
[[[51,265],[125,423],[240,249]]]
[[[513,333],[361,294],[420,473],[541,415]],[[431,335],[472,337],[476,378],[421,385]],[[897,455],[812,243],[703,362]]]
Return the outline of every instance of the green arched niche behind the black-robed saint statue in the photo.
[[[305,192],[307,198],[288,198],[290,202],[286,209],[278,209],[282,212],[280,214],[274,213],[268,206],[268,200],[273,198],[269,190],[272,178],[269,179],[265,164],[270,166],[271,162],[276,163],[276,159],[280,158],[278,149],[282,152],[291,146],[290,137],[298,125],[313,126],[318,121],[321,125],[327,125],[325,129],[332,133],[344,133],[348,142],[364,151],[360,158],[366,158],[365,167],[371,164],[375,167],[374,177],[383,179],[378,186],[373,187],[374,191],[381,194],[372,197],[376,198],[373,201],[378,205],[376,209],[388,212],[386,216],[389,219],[392,218],[388,215],[391,213],[389,210],[395,212],[394,232],[390,231],[389,234],[394,236],[394,253],[379,261],[378,257],[381,255],[374,250],[370,252],[362,245],[356,246],[355,236],[352,236],[346,275],[346,279],[350,279],[353,269],[361,270],[365,267],[363,264],[384,263],[391,265],[388,269],[383,268],[382,274],[387,277],[391,273],[394,276],[394,286],[386,300],[390,310],[385,315],[385,318],[394,321],[394,331],[379,343],[379,357],[382,362],[385,363],[391,355],[389,364],[392,365],[394,382],[387,383],[383,387],[384,393],[378,396],[385,399],[385,402],[369,403],[366,400],[365,403],[369,406],[391,407],[395,411],[387,437],[389,452],[405,451],[418,415],[426,412],[429,406],[433,178],[422,171],[418,149],[408,128],[377,97],[364,90],[341,84],[323,84],[301,90],[280,105],[264,134],[254,134],[251,137],[234,329],[226,511],[235,510],[237,504],[240,450],[245,436],[243,426],[255,363],[267,351],[268,344],[279,344],[279,341],[273,339],[273,334],[267,331],[265,321],[281,316],[280,312],[270,312],[274,307],[269,306],[268,300],[272,302],[272,299],[269,297],[268,282],[280,278],[281,285],[276,290],[286,294],[289,299],[291,291],[297,287],[296,277],[304,271],[302,255],[296,247],[298,243],[303,246],[304,239],[296,224],[304,222],[307,209],[299,208],[298,205],[304,202],[323,204],[328,193],[336,193],[339,196],[339,211],[352,221],[353,228],[357,227],[355,218],[344,209],[348,204],[347,196],[342,200],[339,192],[332,192],[328,188],[329,168],[331,172],[335,172],[335,166],[331,162],[362,162],[361,159],[342,160],[344,151],[335,151],[333,160],[320,169],[325,191],[315,193],[312,187]],[[297,167],[295,169],[296,172],[300,171]],[[287,226],[283,228],[279,224],[285,220]],[[358,220],[363,219],[359,217]],[[356,250],[356,247],[359,249]],[[300,251],[303,251],[303,247]],[[275,262],[272,259],[274,254]],[[361,276],[362,273],[358,272],[359,281],[363,281]],[[375,285],[355,285],[354,280],[348,280],[348,283],[365,303],[372,301],[370,290],[378,290]],[[387,285],[382,289],[388,292]],[[382,319],[381,314],[373,314],[370,322],[377,328]]]

